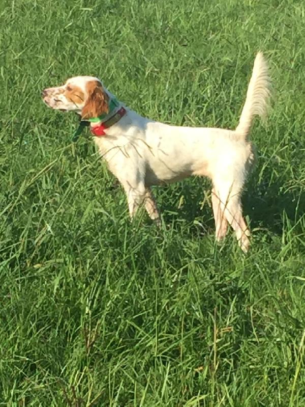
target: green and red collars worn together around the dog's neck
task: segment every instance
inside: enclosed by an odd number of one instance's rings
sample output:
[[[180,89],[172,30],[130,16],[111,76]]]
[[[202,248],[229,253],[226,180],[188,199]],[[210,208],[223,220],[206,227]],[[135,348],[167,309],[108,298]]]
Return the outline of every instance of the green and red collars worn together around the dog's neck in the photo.
[[[116,98],[111,98],[109,102],[109,113],[111,113],[116,107],[118,107],[119,103],[116,100]],[[108,115],[109,115],[108,113]],[[91,132],[96,136],[96,137],[101,137],[102,135],[105,135],[104,130],[106,128],[111,127],[113,124],[117,123],[121,117],[123,117],[126,114],[126,109],[124,107],[121,107],[112,117],[110,117],[108,120],[106,120],[104,123],[101,123],[99,126],[94,126],[90,130]],[[98,123],[101,122],[103,119],[105,119],[107,115],[101,115],[98,117],[92,117],[87,120],[81,120],[79,123],[78,128],[74,131],[73,136],[72,136],[72,141],[76,142],[81,135],[84,127],[89,126],[90,123]]]

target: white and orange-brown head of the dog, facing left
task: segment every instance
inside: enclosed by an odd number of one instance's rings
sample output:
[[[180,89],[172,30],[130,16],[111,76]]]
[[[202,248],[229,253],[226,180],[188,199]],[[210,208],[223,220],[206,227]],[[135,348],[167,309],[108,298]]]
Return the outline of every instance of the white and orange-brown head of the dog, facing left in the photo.
[[[70,78],[63,86],[43,90],[42,98],[49,107],[76,112],[83,120],[109,112],[109,96],[93,76]]]

